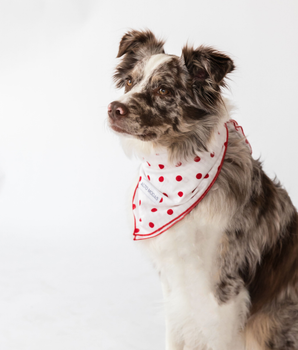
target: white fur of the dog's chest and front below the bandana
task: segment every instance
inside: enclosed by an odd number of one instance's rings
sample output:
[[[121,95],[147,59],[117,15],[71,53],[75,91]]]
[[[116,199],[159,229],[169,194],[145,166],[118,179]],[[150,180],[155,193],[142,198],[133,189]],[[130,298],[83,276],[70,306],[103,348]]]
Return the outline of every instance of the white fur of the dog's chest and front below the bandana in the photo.
[[[247,292],[222,306],[213,293],[225,227],[226,219],[210,215],[207,200],[160,236],[139,242],[161,276],[167,350],[243,348],[239,315],[246,313]]]

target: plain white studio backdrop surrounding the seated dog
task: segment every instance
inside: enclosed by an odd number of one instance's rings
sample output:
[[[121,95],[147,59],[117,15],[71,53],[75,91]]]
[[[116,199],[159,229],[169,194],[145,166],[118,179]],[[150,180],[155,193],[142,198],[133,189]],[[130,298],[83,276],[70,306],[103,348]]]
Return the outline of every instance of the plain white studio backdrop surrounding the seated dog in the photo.
[[[0,0],[1,350],[164,348],[124,208],[137,164],[106,124],[130,28],[231,55],[234,118],[298,205],[297,1]]]

